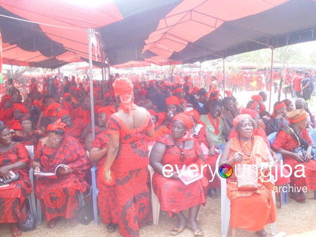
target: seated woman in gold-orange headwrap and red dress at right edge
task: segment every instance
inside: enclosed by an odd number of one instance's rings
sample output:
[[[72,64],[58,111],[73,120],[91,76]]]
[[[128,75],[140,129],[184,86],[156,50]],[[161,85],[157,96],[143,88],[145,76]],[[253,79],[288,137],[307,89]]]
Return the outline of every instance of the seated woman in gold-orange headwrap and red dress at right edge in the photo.
[[[272,144],[275,152],[281,153],[283,163],[291,167],[292,175],[290,177],[290,185],[296,185],[300,191],[290,193],[291,198],[297,202],[305,202],[305,196],[302,187],[306,186],[307,190],[316,189],[316,161],[311,160],[312,141],[306,130],[307,113],[305,110],[295,109],[287,112],[287,119],[290,125],[282,127],[276,134],[276,138]],[[302,147],[304,154],[297,153],[298,147]],[[305,177],[297,177],[294,175],[296,170],[301,170],[304,166]],[[286,167],[288,169],[288,167]],[[298,171],[298,174],[301,173]]]

